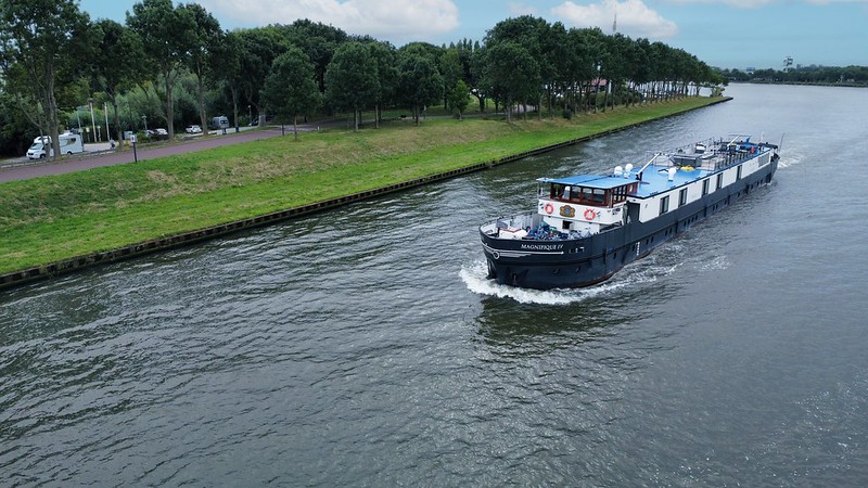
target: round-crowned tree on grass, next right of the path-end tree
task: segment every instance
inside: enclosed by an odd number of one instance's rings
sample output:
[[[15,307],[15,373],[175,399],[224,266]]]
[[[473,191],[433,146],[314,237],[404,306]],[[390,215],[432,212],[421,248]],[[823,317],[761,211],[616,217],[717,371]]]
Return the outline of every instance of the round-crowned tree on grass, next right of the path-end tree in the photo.
[[[370,49],[361,42],[346,42],[326,72],[326,98],[340,111],[353,111],[354,131],[359,130],[361,111],[376,103],[380,79]]]

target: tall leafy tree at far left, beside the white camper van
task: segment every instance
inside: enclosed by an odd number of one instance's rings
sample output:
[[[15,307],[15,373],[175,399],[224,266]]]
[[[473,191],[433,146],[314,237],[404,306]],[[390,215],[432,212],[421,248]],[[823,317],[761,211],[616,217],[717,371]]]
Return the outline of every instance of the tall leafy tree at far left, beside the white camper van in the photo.
[[[60,156],[58,92],[87,68],[94,33],[77,2],[0,2],[0,77]],[[29,103],[28,103],[29,102]]]

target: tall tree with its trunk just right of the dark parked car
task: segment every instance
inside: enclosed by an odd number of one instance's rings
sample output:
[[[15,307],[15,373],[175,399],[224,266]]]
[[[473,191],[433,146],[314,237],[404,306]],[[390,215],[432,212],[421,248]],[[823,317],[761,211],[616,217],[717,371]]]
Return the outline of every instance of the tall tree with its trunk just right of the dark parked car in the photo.
[[[153,85],[157,97],[164,100],[161,117],[168,126],[169,139],[175,138],[175,98],[173,90],[178,76],[190,63],[196,46],[196,23],[190,9],[175,8],[171,0],[142,0],[127,12],[127,25],[142,40],[148,66],[154,78],[159,78],[161,89]]]

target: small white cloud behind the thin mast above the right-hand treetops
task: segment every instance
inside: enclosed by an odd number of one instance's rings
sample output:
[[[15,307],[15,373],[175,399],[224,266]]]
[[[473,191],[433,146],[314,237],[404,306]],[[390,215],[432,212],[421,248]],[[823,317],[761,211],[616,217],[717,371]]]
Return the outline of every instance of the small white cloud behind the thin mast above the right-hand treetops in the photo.
[[[572,1],[553,8],[552,13],[575,27],[600,27],[612,31],[617,13],[617,31],[630,37],[647,37],[652,40],[666,39],[678,34],[674,22],[663,18],[648,8],[642,0],[602,0],[599,3],[578,5]]]

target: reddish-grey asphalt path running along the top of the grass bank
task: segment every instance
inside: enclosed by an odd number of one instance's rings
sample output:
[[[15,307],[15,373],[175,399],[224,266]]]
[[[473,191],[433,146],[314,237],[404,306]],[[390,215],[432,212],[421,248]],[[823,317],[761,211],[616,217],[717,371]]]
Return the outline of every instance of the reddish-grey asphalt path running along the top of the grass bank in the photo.
[[[138,144],[136,147],[136,155],[138,160],[153,159],[156,157],[171,156],[175,154],[186,154],[206,149],[221,147],[224,145],[238,144],[241,142],[258,141],[263,139],[270,139],[281,134],[280,128],[263,128],[259,130],[247,130],[235,133],[229,129],[226,136],[209,136],[206,138],[196,138],[183,142],[176,142],[171,144],[159,144],[148,147],[146,145]],[[291,136],[291,131],[286,131]],[[150,145],[150,144],[149,144]],[[73,171],[82,171],[86,169],[100,168],[103,166],[115,166],[133,163],[132,151],[127,150],[123,152],[106,151],[95,155],[86,155],[78,157],[64,157],[60,162],[51,159],[39,159],[33,163],[23,163],[18,166],[8,167],[0,169],[0,183],[7,181],[26,180],[29,178],[37,178],[50,175],[63,175]]]

